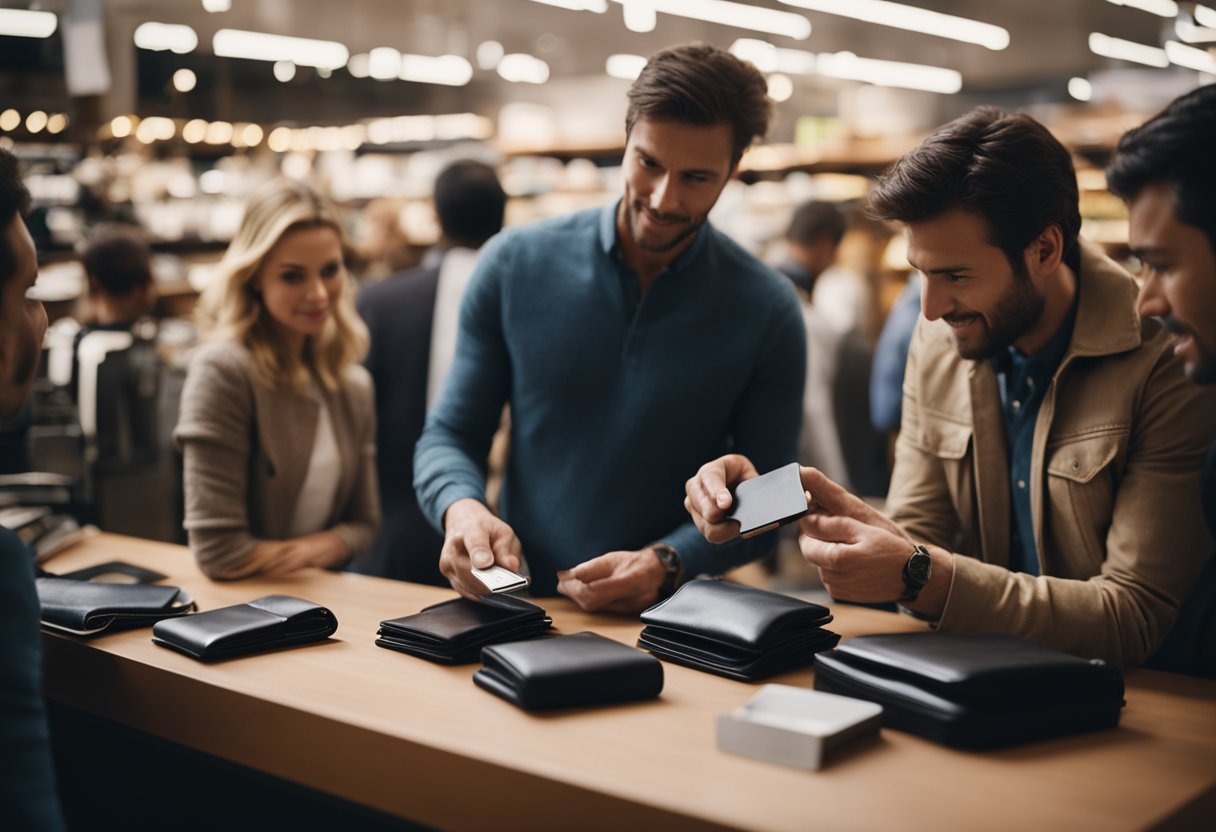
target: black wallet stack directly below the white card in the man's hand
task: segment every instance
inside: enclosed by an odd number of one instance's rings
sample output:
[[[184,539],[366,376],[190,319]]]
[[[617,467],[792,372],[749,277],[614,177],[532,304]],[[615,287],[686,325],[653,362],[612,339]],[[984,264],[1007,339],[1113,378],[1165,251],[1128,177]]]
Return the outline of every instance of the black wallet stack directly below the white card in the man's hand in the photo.
[[[510,595],[452,598],[381,622],[376,643],[440,664],[467,664],[477,662],[486,645],[533,639],[552,625],[544,609]]]

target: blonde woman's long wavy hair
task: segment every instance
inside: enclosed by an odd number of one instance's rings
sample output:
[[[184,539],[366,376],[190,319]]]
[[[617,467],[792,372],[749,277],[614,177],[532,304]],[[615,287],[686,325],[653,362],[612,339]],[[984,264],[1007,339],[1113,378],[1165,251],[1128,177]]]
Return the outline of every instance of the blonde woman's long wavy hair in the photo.
[[[313,227],[331,227],[338,235],[344,283],[321,335],[306,337],[300,355],[278,335],[253,280],[283,235]],[[249,197],[241,227],[198,299],[199,328],[208,338],[244,344],[270,387],[304,390],[311,372],[326,388],[337,389],[347,367],[367,352],[367,327],[355,311],[355,285],[345,268],[349,252],[342,217],[330,199],[291,180],[265,185]]]

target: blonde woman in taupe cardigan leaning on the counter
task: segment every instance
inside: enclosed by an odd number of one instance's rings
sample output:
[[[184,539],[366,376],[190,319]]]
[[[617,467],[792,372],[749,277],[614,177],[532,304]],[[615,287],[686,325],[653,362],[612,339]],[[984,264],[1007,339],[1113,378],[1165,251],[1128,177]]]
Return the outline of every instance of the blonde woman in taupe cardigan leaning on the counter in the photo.
[[[174,439],[186,530],[215,579],[338,567],[379,525],[367,331],[337,208],[297,182],[246,207],[199,298]]]

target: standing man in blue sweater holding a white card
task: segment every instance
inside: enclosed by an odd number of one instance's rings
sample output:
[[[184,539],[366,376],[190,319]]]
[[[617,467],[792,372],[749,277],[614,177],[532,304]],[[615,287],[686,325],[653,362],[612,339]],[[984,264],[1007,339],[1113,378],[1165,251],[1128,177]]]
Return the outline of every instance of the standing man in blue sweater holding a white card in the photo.
[[[788,281],[706,215],[767,130],[764,77],[721,50],[651,58],[629,91],[625,192],[613,206],[508,230],[483,249],[447,384],[415,452],[440,572],[528,562],[536,595],[636,612],[685,578],[765,555],[708,544],[683,483],[734,450],[794,460],[806,345]],[[502,517],[485,457],[511,405]]]

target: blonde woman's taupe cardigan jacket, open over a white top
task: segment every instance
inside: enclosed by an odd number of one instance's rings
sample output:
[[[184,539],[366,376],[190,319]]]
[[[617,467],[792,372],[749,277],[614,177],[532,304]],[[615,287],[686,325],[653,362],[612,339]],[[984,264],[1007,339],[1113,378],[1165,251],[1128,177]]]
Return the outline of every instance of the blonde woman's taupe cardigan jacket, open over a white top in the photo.
[[[371,549],[381,517],[371,377],[353,365],[342,389],[321,395],[342,459],[325,528],[359,556]],[[184,457],[190,547],[208,575],[241,578],[259,540],[289,536],[319,417],[313,397],[261,383],[241,344],[208,343],[191,359],[174,442]]]

